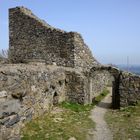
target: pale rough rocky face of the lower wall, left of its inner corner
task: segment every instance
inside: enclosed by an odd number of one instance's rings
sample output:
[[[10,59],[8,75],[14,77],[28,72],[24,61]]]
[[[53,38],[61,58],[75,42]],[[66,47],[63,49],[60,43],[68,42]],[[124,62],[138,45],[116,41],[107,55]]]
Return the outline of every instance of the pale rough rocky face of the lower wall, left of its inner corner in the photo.
[[[58,103],[65,100],[65,70],[46,65],[2,65],[0,66],[1,97],[0,127],[7,133],[17,123],[29,121],[49,111],[53,106],[55,92]],[[55,87],[55,88],[54,88]],[[0,133],[3,133],[2,131]],[[11,135],[14,136],[13,131]],[[5,133],[1,134],[6,137]]]

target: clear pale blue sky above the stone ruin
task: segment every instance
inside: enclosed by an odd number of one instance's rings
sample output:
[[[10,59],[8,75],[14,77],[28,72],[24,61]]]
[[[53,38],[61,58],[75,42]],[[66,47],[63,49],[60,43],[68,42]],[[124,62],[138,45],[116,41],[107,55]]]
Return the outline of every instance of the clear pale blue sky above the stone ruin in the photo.
[[[103,64],[140,65],[140,0],[0,0],[0,50],[9,47],[8,9],[24,6],[48,24],[79,32]]]

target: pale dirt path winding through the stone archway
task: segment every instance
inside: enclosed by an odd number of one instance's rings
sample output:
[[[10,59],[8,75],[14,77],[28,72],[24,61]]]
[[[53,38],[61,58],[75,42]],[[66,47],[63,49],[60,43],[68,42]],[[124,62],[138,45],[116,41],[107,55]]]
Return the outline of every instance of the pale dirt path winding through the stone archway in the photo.
[[[108,94],[91,112],[91,118],[96,123],[94,136],[89,136],[88,140],[113,140],[113,136],[107,123],[104,120],[104,115],[107,109],[111,105],[111,93],[112,89],[109,88],[110,94]]]

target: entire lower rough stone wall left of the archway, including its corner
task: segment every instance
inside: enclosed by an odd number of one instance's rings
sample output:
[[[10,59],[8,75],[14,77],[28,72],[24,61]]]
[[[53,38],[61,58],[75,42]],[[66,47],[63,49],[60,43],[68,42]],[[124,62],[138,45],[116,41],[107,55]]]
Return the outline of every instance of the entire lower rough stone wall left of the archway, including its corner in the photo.
[[[62,101],[89,103],[86,77],[44,63],[0,65],[0,138],[18,137],[25,121]]]

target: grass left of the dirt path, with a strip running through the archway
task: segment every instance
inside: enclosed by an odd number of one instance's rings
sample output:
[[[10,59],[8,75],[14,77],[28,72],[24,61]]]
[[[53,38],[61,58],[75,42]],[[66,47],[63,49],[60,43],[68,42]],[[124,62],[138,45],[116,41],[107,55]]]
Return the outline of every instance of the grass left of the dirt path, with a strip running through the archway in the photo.
[[[57,108],[61,111],[48,113],[28,122],[21,132],[22,140],[85,140],[90,129],[95,127],[89,118],[94,105],[102,100],[108,91],[104,90],[92,105],[63,102]]]

